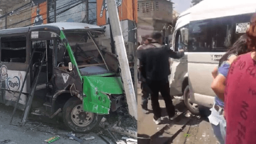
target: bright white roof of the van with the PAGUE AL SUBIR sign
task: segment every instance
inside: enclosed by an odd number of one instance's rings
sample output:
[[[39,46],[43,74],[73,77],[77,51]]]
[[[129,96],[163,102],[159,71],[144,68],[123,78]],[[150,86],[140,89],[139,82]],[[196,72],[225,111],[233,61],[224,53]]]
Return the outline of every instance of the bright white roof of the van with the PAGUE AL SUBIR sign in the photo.
[[[254,12],[255,0],[203,0],[180,14],[176,29],[189,24],[190,21]]]

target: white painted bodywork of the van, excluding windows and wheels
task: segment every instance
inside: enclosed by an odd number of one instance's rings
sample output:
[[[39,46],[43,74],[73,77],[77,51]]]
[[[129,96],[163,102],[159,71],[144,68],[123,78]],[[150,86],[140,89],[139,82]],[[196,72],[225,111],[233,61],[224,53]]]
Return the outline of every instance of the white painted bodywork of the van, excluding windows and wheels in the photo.
[[[250,14],[255,11],[256,1],[252,0],[203,0],[180,14],[173,34],[173,49],[177,32],[191,21]],[[180,60],[173,60],[170,79],[171,95],[181,93],[181,83],[186,76],[180,75],[188,72],[191,102],[210,108],[215,96],[211,89],[213,81],[211,72],[214,67],[218,66],[218,60],[225,52],[188,52],[185,54],[187,54],[187,65],[181,66]]]

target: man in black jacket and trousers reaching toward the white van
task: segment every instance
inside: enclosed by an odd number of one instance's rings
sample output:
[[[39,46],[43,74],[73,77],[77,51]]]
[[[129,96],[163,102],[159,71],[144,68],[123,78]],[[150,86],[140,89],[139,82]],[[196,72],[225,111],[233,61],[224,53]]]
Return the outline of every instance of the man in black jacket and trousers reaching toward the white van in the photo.
[[[170,95],[168,75],[171,74],[169,58],[180,59],[184,52],[174,52],[168,46],[162,45],[162,34],[154,32],[152,41],[139,55],[140,67],[143,77],[152,93],[151,103],[153,108],[153,120],[156,124],[161,122],[161,108],[158,102],[159,91],[165,101],[166,111],[171,120],[177,115]]]

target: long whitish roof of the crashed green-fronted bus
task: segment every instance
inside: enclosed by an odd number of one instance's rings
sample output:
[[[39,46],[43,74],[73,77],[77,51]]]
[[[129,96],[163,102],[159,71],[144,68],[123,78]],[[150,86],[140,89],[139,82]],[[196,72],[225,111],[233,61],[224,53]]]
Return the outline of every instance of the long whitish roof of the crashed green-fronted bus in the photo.
[[[59,33],[60,30],[72,30],[72,29],[103,30],[104,29],[100,26],[86,24],[86,23],[58,22],[58,23],[49,23],[49,24],[43,24],[43,25],[38,25],[38,26],[0,30],[0,35],[14,34],[14,33],[25,33],[25,32],[29,32],[29,31],[40,31],[40,30],[43,30],[44,28],[51,29],[52,31],[55,31],[56,33]]]

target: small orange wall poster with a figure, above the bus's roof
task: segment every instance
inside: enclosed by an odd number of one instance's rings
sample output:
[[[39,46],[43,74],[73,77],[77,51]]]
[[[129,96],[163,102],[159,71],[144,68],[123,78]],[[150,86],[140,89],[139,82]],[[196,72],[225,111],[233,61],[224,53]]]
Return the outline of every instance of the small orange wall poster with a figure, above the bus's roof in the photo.
[[[31,12],[31,24],[33,26],[47,24],[47,2],[42,1],[34,4]]]

